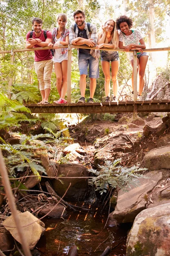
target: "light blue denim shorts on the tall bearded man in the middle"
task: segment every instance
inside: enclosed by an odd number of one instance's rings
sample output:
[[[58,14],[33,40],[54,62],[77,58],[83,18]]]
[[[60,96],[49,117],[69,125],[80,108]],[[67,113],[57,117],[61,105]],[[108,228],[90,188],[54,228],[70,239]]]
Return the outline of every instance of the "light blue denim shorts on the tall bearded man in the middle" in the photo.
[[[88,75],[89,64],[89,77],[99,78],[99,59],[95,59],[91,54],[79,54],[79,72],[81,75]]]

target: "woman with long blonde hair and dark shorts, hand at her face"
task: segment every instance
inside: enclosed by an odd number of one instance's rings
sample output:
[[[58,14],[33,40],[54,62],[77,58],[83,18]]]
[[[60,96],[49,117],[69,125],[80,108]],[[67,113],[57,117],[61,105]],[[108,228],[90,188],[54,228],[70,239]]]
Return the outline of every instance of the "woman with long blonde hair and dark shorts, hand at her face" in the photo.
[[[118,48],[119,47],[119,34],[116,30],[116,23],[114,20],[109,19],[105,22],[105,25],[102,26],[102,31],[99,32],[98,36],[98,46],[97,49],[102,47],[107,48]],[[111,74],[110,74],[110,61],[111,61]],[[110,102],[110,81],[112,77],[113,81],[113,101],[117,101],[117,90],[118,90],[118,81],[117,73],[119,70],[119,53],[115,51],[106,51],[102,50],[101,52],[101,65],[102,70],[105,75],[105,94],[106,102]]]

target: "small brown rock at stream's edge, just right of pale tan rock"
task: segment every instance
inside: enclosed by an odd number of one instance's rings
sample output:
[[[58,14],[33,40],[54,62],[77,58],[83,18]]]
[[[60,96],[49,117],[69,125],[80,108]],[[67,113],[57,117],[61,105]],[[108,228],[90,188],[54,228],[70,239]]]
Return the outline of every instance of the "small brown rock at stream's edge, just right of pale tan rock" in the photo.
[[[48,205],[47,207],[42,208],[39,215],[44,216],[48,213],[47,217],[49,218],[60,218],[61,216],[65,217],[67,215],[67,211],[62,204],[57,204],[56,207],[51,211],[52,208],[54,208],[54,205]]]

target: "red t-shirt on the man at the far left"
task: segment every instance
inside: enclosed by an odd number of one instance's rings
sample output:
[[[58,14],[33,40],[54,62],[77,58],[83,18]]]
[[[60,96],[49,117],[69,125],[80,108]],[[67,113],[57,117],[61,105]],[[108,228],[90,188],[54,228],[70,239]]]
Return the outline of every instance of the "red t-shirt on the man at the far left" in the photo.
[[[26,35],[26,41],[28,41],[28,39],[30,38],[30,32],[27,33]],[[37,38],[35,37],[35,32],[33,31],[33,35],[32,38]],[[42,40],[42,42],[45,42],[45,37],[44,37],[44,29],[42,29],[41,31],[41,35],[38,37],[40,40]],[[52,34],[51,31],[47,31],[47,38],[52,39]],[[35,47],[40,47],[39,45],[35,44],[33,48]],[[35,52],[35,61],[47,61],[47,60],[51,60],[53,58],[53,55],[51,54],[51,50],[39,50],[39,51],[34,51]]]

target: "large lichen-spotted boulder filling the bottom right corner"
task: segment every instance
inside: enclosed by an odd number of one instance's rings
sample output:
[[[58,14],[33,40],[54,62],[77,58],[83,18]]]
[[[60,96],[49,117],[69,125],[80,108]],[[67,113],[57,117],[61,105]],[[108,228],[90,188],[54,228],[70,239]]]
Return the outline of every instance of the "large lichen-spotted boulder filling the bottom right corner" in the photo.
[[[140,212],[127,236],[126,256],[170,255],[170,203]]]

